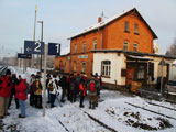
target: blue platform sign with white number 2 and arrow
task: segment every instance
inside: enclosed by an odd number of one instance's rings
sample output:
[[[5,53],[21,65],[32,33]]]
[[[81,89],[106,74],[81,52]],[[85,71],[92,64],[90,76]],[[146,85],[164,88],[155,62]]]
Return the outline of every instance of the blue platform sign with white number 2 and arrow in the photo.
[[[24,41],[25,54],[44,54],[44,42]]]

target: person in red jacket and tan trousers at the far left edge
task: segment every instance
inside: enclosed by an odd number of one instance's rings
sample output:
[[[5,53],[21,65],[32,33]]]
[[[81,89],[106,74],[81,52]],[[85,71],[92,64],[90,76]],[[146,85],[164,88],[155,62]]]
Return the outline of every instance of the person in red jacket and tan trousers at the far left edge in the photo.
[[[2,119],[4,116],[9,116],[8,106],[11,95],[11,72],[7,69],[6,76],[2,76],[0,80],[0,119]]]

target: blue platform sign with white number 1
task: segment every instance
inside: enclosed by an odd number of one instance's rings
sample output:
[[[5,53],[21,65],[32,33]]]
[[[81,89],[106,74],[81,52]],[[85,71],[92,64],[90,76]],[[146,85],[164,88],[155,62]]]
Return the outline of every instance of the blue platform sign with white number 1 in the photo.
[[[48,43],[48,55],[61,55],[61,44],[58,43]]]

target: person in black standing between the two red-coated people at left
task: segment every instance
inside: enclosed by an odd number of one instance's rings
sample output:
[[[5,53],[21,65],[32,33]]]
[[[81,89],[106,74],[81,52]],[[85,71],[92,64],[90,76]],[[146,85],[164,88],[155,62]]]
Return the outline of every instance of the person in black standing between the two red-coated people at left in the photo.
[[[9,108],[11,106],[11,101],[13,97],[15,98],[15,85],[19,82],[19,79],[16,78],[15,74],[12,74],[12,89],[11,89],[11,95],[10,95],[10,101],[9,101]],[[19,99],[15,98],[15,107],[19,109]]]

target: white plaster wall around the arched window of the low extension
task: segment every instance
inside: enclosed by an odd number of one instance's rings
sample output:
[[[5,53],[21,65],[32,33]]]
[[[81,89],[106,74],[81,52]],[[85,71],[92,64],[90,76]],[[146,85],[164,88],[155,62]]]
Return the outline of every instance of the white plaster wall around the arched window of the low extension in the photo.
[[[124,55],[118,53],[95,53],[94,54],[94,74],[101,74],[101,62],[111,61],[110,78],[102,77],[102,81],[117,85],[125,85],[125,78],[121,77],[122,67],[125,68]]]

